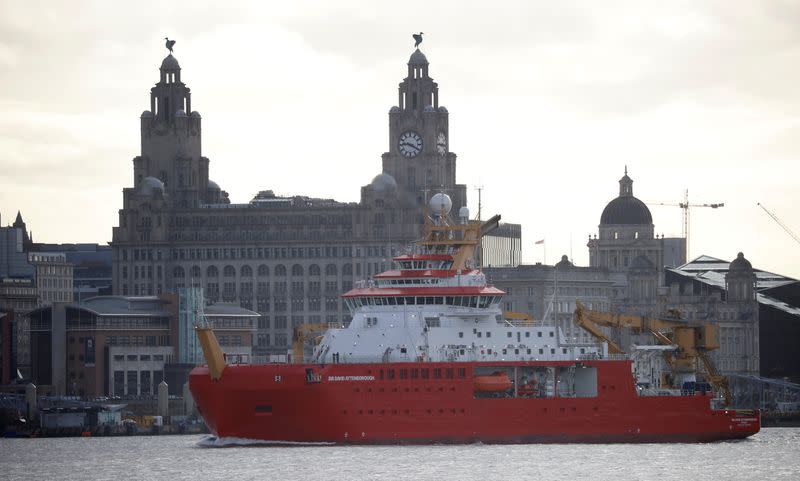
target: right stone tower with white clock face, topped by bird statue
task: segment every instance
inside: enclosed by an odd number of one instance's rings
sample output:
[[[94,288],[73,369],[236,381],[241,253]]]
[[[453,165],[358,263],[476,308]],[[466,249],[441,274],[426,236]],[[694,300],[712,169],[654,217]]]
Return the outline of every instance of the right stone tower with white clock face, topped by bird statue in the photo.
[[[401,203],[421,206],[444,191],[453,206],[466,205],[466,187],[456,184],[456,154],[450,152],[447,109],[439,105],[439,86],[428,75],[428,59],[419,49],[408,60],[408,76],[389,111],[389,151],[383,172],[397,181]]]

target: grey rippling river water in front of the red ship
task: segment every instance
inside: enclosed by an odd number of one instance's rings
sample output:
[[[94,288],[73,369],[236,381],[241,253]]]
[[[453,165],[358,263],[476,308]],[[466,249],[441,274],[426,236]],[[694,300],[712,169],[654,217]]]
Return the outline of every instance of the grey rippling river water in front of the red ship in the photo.
[[[204,447],[203,439],[0,439],[0,479],[800,479],[800,428],[711,444]]]

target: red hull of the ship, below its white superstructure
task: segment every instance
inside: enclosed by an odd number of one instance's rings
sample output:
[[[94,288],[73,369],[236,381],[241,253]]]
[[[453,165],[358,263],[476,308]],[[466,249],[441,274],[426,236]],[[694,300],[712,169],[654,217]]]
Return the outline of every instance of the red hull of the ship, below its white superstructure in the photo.
[[[595,397],[476,398],[472,369],[482,363],[232,365],[218,381],[198,367],[190,388],[216,435],[273,442],[708,442],[760,429],[758,411],[712,410],[708,395],[640,397],[630,361],[584,364],[597,368]],[[379,376],[412,368],[462,377]]]

